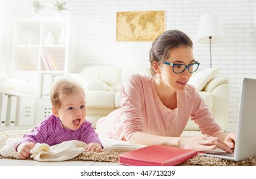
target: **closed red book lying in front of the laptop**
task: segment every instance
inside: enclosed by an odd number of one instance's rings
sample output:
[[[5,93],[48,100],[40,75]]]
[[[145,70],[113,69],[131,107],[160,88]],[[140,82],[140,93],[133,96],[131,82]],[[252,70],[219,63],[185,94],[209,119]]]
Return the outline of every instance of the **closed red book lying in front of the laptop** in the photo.
[[[176,166],[198,155],[196,150],[152,145],[119,155],[119,163],[127,166]]]

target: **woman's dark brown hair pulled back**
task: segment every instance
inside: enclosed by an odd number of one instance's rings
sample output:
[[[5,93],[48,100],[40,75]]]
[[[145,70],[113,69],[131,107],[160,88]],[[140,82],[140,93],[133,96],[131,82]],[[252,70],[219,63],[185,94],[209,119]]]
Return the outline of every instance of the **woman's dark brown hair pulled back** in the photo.
[[[152,43],[152,47],[149,52],[151,74],[155,75],[153,61],[157,61],[158,63],[164,63],[166,59],[169,58],[169,52],[180,46],[191,48],[193,46],[192,40],[182,31],[169,30],[158,36],[157,39]]]

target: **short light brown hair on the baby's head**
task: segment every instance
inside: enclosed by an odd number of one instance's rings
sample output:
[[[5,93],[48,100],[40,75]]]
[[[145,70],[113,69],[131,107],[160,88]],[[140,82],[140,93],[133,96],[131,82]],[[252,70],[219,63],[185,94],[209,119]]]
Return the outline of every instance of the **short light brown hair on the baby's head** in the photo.
[[[71,79],[60,79],[56,81],[51,89],[51,104],[58,109],[61,105],[60,98],[72,94],[75,90],[81,91],[85,95],[80,84],[71,81]]]

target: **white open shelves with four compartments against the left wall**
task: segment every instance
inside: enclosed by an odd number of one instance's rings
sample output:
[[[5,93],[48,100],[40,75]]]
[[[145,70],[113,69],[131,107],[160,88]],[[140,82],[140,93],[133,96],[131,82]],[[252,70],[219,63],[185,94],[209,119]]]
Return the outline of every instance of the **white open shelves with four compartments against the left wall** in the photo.
[[[13,35],[11,72],[35,82],[27,72],[37,73],[37,97],[42,97],[42,76],[65,76],[69,70],[69,19],[19,19]],[[51,34],[53,43],[45,40]],[[62,40],[58,39],[62,36]],[[64,36],[64,37],[63,37]],[[16,73],[17,72],[17,73]],[[22,75],[22,73],[24,75]]]

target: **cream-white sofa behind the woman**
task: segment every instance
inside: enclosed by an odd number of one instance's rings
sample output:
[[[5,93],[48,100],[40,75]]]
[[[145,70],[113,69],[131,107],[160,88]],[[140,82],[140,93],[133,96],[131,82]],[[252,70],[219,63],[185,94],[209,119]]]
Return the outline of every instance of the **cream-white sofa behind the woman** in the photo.
[[[149,74],[149,66],[86,66],[80,74],[69,74],[85,89],[87,120],[96,121],[120,107],[123,81],[133,73]],[[228,127],[228,79],[218,77],[218,68],[198,70],[192,75],[193,84],[214,114],[219,125]],[[186,130],[198,130],[189,120]]]

